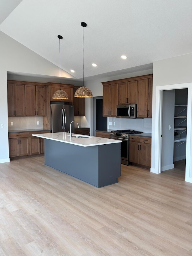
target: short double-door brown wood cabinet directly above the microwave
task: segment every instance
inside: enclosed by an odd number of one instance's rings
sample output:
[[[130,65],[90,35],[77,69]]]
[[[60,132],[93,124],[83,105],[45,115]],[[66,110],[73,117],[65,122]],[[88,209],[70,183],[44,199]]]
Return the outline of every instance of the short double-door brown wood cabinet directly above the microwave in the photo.
[[[119,83],[119,105],[137,104],[137,80]]]

